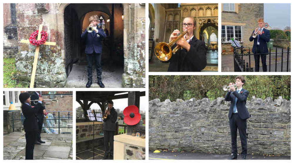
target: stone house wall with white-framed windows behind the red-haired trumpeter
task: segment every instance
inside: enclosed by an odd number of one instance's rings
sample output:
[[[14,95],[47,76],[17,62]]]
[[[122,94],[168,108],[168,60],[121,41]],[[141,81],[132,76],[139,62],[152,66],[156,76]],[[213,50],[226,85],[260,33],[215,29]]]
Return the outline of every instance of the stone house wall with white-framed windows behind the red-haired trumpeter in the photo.
[[[252,48],[253,42],[249,41],[252,31],[257,28],[257,21],[264,17],[263,4],[236,4],[235,12],[222,11],[221,21],[222,25],[242,26],[242,43],[248,49]],[[222,42],[222,50],[224,54],[232,54],[230,43]]]

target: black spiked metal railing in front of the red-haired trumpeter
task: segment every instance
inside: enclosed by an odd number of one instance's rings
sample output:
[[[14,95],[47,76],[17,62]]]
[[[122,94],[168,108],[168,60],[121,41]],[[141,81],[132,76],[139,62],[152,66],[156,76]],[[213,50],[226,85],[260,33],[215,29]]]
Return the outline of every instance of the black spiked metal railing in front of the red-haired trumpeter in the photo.
[[[251,50],[249,48],[248,52],[244,54],[246,50],[244,50],[243,47],[233,47],[233,54],[234,54],[234,72],[253,72],[253,68],[251,67],[251,56],[253,56],[254,61],[254,55],[266,55],[266,60],[269,61],[268,63],[268,71],[271,72],[271,64],[275,64],[275,72],[283,72],[289,71],[289,57],[290,57],[290,50],[289,47],[284,51],[282,48],[281,52],[278,52],[278,48],[275,48],[275,52],[272,53],[273,49],[269,49],[268,53],[261,53],[261,54],[251,54]],[[239,52],[240,51],[240,52]],[[240,54],[239,54],[240,53]],[[281,55],[281,56],[278,56]],[[284,55],[286,55],[286,58],[284,60]],[[247,57],[248,56],[248,57]],[[267,57],[268,56],[268,57]],[[280,60],[278,65],[277,60]],[[272,62],[273,61],[273,62]],[[285,62],[285,70],[283,70],[283,64]]]

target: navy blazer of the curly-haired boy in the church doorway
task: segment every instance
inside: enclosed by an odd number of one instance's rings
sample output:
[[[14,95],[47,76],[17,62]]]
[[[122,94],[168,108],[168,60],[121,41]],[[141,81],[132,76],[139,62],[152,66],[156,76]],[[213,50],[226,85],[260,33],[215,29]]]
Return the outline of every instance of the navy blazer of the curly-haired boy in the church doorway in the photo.
[[[102,28],[97,28],[98,33],[93,31],[92,33],[88,33],[87,30],[85,30],[81,38],[86,39],[86,54],[92,54],[94,51],[96,53],[102,53],[102,44],[101,40],[102,38],[106,37],[106,34],[104,33]]]

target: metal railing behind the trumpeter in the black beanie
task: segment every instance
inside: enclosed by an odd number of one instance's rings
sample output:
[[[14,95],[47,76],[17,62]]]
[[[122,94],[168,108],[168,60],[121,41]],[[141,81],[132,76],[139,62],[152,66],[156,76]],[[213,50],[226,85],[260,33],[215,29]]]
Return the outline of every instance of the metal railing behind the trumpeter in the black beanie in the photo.
[[[60,121],[61,120],[72,120],[72,114],[70,114],[70,113],[72,113],[72,111],[46,111],[47,113],[53,113],[53,119],[46,119],[46,120],[58,120],[58,133],[60,134],[60,128],[73,128],[72,126],[71,127],[61,127],[60,126]],[[58,117],[55,117],[55,115],[56,115],[56,113],[57,113],[57,115],[58,115]],[[64,114],[64,115],[66,115],[66,116],[63,116],[63,117],[60,117],[60,113],[67,113],[67,114]],[[14,112],[12,112],[12,131],[14,132],[14,128],[24,128],[24,126],[22,125],[22,126],[15,126],[14,125],[14,123],[15,123],[15,121],[16,120],[21,120],[21,124],[23,124],[24,123],[24,115],[22,114],[22,113],[20,113],[21,114],[21,119],[14,119]],[[56,128],[56,127],[47,127],[46,126],[46,128]]]

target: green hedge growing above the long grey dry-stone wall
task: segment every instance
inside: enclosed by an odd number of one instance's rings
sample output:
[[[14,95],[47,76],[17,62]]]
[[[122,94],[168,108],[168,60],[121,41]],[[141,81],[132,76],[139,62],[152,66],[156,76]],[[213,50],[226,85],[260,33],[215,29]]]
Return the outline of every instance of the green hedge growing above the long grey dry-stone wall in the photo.
[[[290,100],[290,76],[287,75],[245,75],[244,89],[249,91],[248,98],[252,96],[265,99],[277,99],[282,96]],[[235,81],[235,76],[228,75],[172,75],[149,76],[149,100],[159,98],[161,101],[170,99],[188,100],[191,98],[209,98],[215,100],[224,97],[226,91],[222,86]]]

